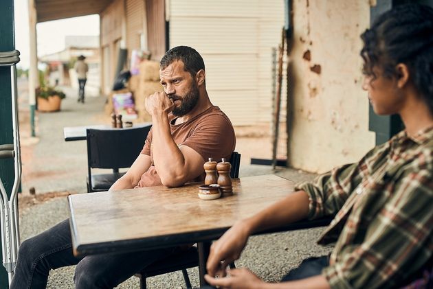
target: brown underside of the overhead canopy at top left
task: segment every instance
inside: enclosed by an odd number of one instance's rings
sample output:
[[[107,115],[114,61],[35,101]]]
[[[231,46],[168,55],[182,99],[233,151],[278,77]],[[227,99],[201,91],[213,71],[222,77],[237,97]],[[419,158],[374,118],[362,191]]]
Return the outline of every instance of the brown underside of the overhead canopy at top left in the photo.
[[[34,0],[37,22],[99,14],[113,0]]]

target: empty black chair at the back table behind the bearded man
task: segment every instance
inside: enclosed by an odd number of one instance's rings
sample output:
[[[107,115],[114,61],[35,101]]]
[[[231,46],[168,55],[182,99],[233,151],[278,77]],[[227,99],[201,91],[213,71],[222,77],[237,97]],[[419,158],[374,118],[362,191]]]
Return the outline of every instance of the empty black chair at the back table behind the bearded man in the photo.
[[[151,126],[87,129],[87,192],[107,191],[124,175],[140,154]],[[109,174],[92,174],[91,169],[112,169]]]

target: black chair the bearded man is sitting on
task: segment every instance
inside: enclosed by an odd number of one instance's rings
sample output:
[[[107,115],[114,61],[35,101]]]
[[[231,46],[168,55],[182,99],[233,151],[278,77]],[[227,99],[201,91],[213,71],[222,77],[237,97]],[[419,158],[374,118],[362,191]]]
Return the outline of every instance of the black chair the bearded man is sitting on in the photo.
[[[230,170],[230,177],[239,177],[239,167],[241,163],[241,154],[238,152],[233,152],[232,157],[230,157],[230,163],[232,169]],[[135,274],[135,276],[140,278],[140,289],[146,289],[146,278],[153,277],[157,275],[162,275],[175,271],[182,271],[184,275],[184,281],[186,288],[192,288],[190,277],[186,269],[199,266],[199,252],[196,246],[188,248],[186,251],[179,252],[174,255],[170,255],[165,259],[159,260],[143,270],[140,273]],[[234,263],[230,264],[230,268],[234,268]]]

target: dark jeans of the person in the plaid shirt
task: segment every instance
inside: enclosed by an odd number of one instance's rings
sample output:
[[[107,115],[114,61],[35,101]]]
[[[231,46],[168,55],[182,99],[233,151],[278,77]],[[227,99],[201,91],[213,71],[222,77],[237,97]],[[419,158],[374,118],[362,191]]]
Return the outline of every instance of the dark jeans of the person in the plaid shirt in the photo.
[[[322,269],[329,266],[329,256],[311,257],[304,259],[298,268],[290,270],[290,272],[282,277],[281,282],[295,281],[320,275]],[[201,287],[202,289],[213,289],[212,286]]]

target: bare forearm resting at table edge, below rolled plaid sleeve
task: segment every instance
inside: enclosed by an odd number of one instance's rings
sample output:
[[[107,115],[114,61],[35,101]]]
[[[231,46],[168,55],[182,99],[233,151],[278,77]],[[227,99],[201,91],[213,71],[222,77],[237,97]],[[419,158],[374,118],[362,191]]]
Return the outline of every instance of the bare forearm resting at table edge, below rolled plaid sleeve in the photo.
[[[267,207],[243,222],[248,231],[254,233],[307,218],[308,208],[309,197],[307,193],[298,191],[289,194],[278,203]]]

